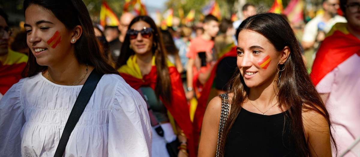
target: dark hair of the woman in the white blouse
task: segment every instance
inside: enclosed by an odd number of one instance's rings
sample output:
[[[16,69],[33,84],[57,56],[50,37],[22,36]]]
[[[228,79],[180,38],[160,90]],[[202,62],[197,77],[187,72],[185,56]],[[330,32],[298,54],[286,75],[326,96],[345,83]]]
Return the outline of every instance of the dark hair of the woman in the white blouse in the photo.
[[[82,0],[24,0],[24,13],[30,5],[39,5],[51,11],[68,30],[74,29],[77,25],[82,27],[81,37],[74,48],[75,57],[80,64],[93,66],[99,74],[118,73],[107,63],[107,59],[100,50],[89,11]],[[47,68],[48,66],[37,64],[35,56],[30,52],[22,75],[31,77]]]

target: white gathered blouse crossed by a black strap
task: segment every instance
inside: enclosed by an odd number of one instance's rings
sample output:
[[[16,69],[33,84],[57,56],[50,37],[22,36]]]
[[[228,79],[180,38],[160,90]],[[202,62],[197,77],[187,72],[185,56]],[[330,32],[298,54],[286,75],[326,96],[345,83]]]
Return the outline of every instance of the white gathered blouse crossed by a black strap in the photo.
[[[0,156],[52,157],[82,88],[39,73],[13,85],[0,101]],[[104,75],[71,133],[66,157],[151,156],[145,101],[121,76]]]

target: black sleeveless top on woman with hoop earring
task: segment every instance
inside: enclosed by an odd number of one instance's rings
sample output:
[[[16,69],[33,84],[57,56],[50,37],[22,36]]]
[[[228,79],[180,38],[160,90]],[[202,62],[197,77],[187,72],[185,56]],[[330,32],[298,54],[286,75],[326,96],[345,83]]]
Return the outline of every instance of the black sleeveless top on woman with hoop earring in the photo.
[[[285,111],[288,112],[288,111]],[[294,138],[285,112],[262,115],[241,109],[225,144],[225,157],[292,157]]]

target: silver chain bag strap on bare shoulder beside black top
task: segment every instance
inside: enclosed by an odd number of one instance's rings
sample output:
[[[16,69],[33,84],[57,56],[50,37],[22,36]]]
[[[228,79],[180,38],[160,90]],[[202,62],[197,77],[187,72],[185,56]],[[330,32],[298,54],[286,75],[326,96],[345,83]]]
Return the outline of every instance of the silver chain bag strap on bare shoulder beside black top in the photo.
[[[224,145],[224,138],[222,137],[222,132],[226,121],[228,120],[229,115],[229,95],[227,93],[220,94],[221,97],[221,116],[220,116],[220,125],[219,125],[219,136],[217,137],[217,148],[216,148],[216,157],[222,157],[224,154],[223,151],[220,151],[220,148]]]

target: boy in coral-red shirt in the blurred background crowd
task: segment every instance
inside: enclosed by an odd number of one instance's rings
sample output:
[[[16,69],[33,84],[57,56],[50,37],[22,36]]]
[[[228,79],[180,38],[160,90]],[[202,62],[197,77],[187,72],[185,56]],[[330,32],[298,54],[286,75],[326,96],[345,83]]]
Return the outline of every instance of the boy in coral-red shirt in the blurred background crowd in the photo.
[[[217,32],[219,32],[219,21],[213,15],[205,16],[203,20],[204,33],[192,41],[190,41],[189,51],[186,53],[186,57],[189,58],[188,70],[186,71],[187,77],[187,93],[186,98],[191,100],[194,96],[194,90],[196,90],[197,96],[201,92],[202,85],[205,84],[211,69],[214,65],[214,41]],[[205,52],[206,65],[200,66],[201,59],[198,53]]]

